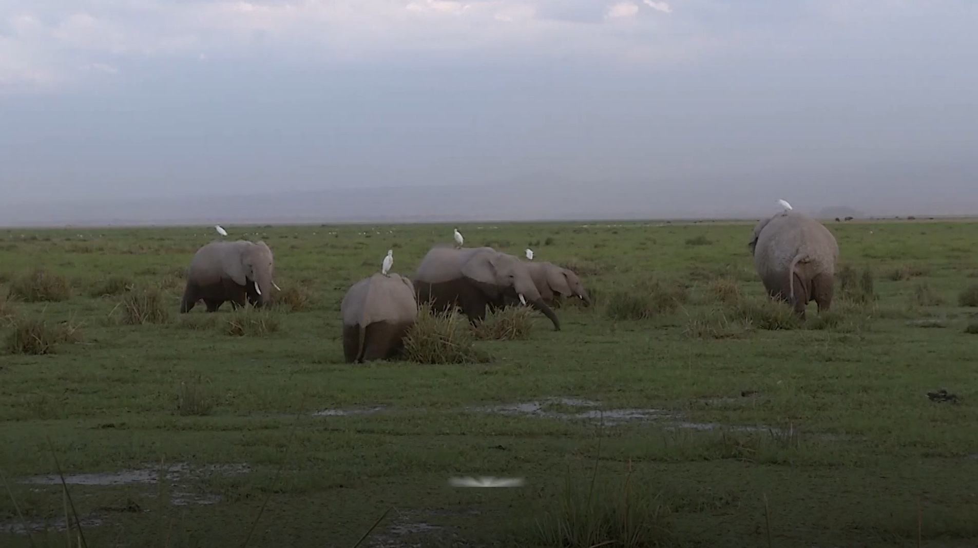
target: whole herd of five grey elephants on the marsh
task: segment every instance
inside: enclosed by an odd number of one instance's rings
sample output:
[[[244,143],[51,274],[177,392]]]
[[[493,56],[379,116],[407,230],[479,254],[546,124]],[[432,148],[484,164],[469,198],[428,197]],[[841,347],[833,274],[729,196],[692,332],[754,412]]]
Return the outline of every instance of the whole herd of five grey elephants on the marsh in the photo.
[[[762,219],[748,244],[768,295],[787,301],[804,318],[815,300],[819,311],[831,305],[839,249],[819,221],[786,209]],[[195,253],[187,272],[180,312],[203,300],[214,312],[232,306],[270,302],[272,251],[264,242],[212,242]],[[434,311],[459,307],[475,324],[487,310],[516,303],[532,306],[560,330],[551,308],[555,297],[578,297],[591,305],[583,284],[569,269],[549,262],[524,261],[493,248],[436,245],[422,258],[413,278],[376,273],[353,284],[340,304],[343,354],[347,362],[387,359],[398,354],[418,316],[418,304]]]

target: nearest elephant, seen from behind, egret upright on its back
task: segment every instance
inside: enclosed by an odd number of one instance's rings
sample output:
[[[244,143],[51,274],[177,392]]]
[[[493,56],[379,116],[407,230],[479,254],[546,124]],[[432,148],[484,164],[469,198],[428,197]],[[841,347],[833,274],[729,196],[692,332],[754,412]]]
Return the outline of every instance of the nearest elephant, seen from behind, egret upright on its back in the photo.
[[[350,287],[339,305],[347,363],[389,359],[404,349],[404,335],[418,318],[411,280],[374,274]]]

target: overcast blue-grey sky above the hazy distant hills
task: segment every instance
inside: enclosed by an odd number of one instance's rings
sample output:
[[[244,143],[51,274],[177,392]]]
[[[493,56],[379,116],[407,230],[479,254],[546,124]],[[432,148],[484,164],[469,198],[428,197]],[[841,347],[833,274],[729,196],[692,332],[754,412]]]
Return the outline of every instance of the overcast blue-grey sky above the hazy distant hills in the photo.
[[[976,0],[0,1],[8,205],[546,179],[978,213],[976,151]]]

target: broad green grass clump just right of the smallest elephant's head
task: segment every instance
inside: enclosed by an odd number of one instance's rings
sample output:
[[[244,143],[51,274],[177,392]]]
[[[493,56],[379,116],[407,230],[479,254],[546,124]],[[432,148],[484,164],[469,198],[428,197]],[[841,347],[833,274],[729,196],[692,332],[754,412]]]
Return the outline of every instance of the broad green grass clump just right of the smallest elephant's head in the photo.
[[[689,300],[685,285],[649,277],[608,294],[604,314],[612,320],[645,320],[672,314]]]

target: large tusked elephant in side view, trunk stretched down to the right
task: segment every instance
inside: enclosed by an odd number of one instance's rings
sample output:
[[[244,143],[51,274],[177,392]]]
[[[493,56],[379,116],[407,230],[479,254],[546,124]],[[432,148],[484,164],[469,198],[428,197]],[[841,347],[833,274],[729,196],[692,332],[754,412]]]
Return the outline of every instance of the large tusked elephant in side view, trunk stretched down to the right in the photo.
[[[492,248],[436,246],[424,255],[415,273],[419,302],[435,310],[460,306],[473,325],[485,318],[486,305],[517,298],[540,310],[560,331],[560,320],[540,297],[525,262]]]

